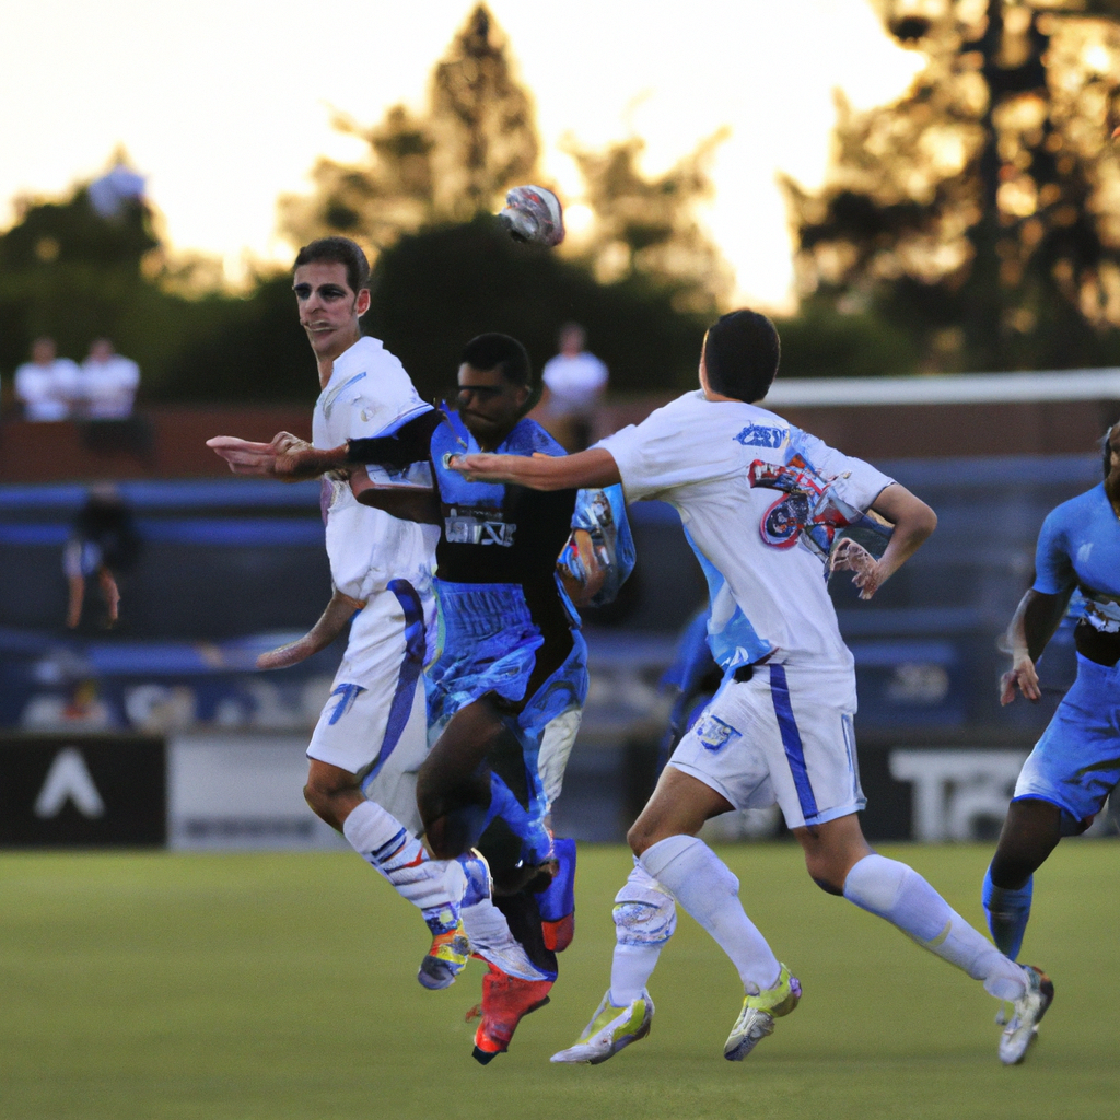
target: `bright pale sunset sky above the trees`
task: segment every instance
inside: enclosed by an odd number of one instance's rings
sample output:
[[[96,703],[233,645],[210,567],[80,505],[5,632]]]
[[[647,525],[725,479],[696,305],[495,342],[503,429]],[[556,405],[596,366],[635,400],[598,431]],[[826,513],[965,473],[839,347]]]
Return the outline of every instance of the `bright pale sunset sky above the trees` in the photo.
[[[579,179],[566,134],[599,147],[636,132],[661,170],[730,125],[706,217],[740,297],[768,306],[791,283],[784,170],[820,183],[832,90],[857,105],[897,96],[921,64],[866,0],[564,0],[489,4],[536,102],[545,171],[566,200]],[[423,102],[467,0],[0,0],[0,225],[20,193],[58,195],[118,144],[148,177],[176,249],[287,262],[276,199],[307,188],[319,155],[361,146],[330,128]]]

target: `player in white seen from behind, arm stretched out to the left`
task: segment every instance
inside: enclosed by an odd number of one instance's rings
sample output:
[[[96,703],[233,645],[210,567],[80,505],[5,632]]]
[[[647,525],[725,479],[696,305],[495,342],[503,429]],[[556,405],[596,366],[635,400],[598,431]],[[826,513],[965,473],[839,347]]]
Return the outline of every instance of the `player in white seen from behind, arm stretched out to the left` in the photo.
[[[576,1045],[557,1062],[604,1062],[650,1029],[646,988],[680,904],[735,964],[745,991],[725,1046],[744,1058],[794,1009],[801,986],[747,917],[738,880],[697,837],[731,809],[781,806],[809,874],[918,944],[1016,1001],[1044,1010],[1035,969],[1008,960],[916,871],[874,852],[857,811],[856,678],[825,575],[837,529],[868,510],[893,524],[876,561],[842,543],[862,598],[922,544],[936,517],[913,494],[758,405],[778,363],[774,325],[754,311],[708,332],[700,390],[566,458],[470,455],[469,478],[538,489],[622,482],[628,501],[660,498],[681,515],[709,579],[712,652],[724,685],[684,736],[629,831],[634,870],[616,897],[610,987]]]

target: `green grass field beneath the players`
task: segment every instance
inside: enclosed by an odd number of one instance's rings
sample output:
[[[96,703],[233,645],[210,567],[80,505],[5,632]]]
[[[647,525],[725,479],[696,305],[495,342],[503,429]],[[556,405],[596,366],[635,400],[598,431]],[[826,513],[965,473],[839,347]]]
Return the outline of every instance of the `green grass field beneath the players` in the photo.
[[[724,1061],[741,991],[682,915],[654,977],[651,1036],[601,1066],[549,1064],[606,988],[610,904],[629,866],[622,848],[587,846],[552,1004],[485,1068],[464,1021],[482,967],[423,991],[418,915],[353,856],[0,856],[0,1117],[1120,1114],[1114,843],[1066,843],[1038,876],[1025,959],[1057,998],[1011,1070],[979,984],[822,894],[794,847],[721,853],[805,990],[755,1054]],[[989,849],[888,853],[982,921]]]

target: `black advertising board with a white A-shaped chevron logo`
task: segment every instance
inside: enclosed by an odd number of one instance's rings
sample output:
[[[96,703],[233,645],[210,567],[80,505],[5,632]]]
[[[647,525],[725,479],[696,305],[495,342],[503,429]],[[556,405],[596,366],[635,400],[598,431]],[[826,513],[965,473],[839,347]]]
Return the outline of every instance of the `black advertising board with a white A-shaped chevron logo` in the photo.
[[[162,739],[0,736],[0,846],[162,847],[166,841]]]

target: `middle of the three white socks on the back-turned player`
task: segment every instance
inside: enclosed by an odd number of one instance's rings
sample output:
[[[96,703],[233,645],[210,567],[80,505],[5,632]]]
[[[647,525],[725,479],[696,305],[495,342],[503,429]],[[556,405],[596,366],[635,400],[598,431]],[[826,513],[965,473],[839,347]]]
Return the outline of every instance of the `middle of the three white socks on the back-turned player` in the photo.
[[[699,838],[659,840],[640,862],[731,959],[744,990],[757,995],[777,983],[782,965],[739,902],[739,880]]]

